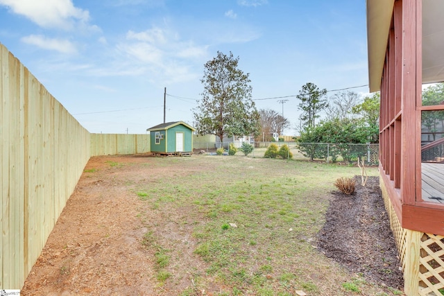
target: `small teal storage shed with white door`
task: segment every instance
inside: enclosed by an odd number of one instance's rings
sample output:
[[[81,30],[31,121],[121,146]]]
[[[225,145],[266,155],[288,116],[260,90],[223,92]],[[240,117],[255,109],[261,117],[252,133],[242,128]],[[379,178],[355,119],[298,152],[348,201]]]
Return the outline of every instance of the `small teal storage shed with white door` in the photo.
[[[160,155],[191,155],[193,153],[193,131],[183,121],[173,121],[148,128],[151,153]]]

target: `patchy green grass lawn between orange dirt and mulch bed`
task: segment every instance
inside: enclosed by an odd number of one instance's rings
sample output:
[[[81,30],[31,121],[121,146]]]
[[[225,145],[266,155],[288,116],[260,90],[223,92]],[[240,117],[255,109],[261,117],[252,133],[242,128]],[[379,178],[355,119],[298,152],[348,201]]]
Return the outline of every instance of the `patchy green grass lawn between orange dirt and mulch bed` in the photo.
[[[148,206],[142,216],[156,211],[162,217],[145,220],[145,243],[162,254],[157,278],[166,290],[393,295],[316,249],[334,180],[358,175],[359,168],[239,156],[158,158],[155,166],[171,177],[134,190]],[[377,168],[368,174],[377,175]]]

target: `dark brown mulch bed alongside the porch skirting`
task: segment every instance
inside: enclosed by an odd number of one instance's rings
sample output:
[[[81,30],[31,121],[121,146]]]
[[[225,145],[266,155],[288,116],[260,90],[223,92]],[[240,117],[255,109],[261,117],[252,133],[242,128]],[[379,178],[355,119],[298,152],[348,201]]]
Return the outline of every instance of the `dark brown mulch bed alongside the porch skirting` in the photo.
[[[368,177],[361,186],[355,177],[354,195],[332,192],[318,247],[327,257],[375,283],[402,290],[404,281],[395,239],[390,229],[379,178]]]

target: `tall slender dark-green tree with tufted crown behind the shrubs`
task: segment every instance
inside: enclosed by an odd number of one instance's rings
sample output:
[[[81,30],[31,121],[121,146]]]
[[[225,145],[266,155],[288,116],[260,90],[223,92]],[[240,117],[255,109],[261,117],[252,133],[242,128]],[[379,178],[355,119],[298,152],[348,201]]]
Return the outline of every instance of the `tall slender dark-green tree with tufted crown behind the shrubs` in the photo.
[[[319,89],[314,83],[308,82],[306,85],[302,85],[296,98],[300,100],[298,107],[302,111],[300,120],[303,127],[314,127],[319,112],[328,107],[327,100],[323,99],[325,94],[327,94],[327,89]]]

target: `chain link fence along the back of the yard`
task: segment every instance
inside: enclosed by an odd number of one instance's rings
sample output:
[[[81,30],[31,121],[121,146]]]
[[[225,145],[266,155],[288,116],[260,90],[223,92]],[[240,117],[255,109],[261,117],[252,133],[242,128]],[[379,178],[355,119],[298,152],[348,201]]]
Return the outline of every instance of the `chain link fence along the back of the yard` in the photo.
[[[200,152],[214,155],[216,154],[216,148],[222,146],[226,150],[224,154],[228,155],[230,143],[233,142],[194,142],[193,146],[195,153]],[[289,147],[289,153],[293,155],[293,159],[325,161],[327,163],[345,162],[352,164],[353,162],[357,162],[358,157],[364,157],[366,164],[376,165],[379,162],[379,144],[373,143],[297,143],[294,141],[260,141],[251,143],[251,145],[254,146],[254,150],[248,155],[248,157],[264,157],[266,149],[272,143],[276,144],[278,148],[283,145],[287,145]],[[241,143],[233,143],[233,145],[234,147],[238,148],[235,155],[244,155],[242,151],[239,150]]]

